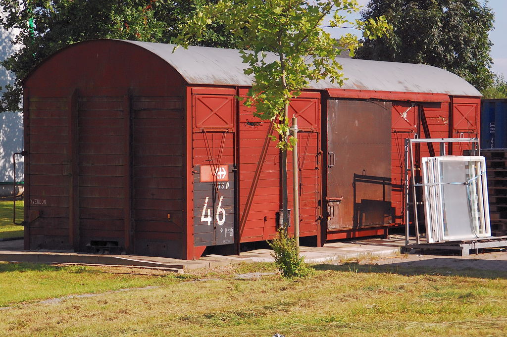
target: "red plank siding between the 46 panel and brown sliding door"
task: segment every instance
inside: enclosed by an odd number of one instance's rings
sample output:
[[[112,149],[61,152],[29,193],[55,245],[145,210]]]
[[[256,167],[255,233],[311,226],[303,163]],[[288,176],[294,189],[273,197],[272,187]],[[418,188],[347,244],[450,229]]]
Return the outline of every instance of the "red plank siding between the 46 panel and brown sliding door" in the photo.
[[[320,175],[317,165],[320,137],[320,101],[317,98],[296,99],[289,107],[289,115],[298,117],[300,141],[300,234],[316,235],[318,194]],[[240,105],[240,212],[243,211],[250,193],[252,178],[258,167],[262,147],[266,139],[269,123],[252,116],[252,109]],[[269,141],[269,147],[261,177],[253,196],[251,210],[245,222],[241,240],[255,241],[270,239],[276,236],[277,213],[280,209],[280,154],[276,143]],[[300,167],[301,169],[301,167]],[[288,207],[293,208],[292,201],[292,153],[288,155]],[[291,219],[291,222],[293,220]],[[294,227],[289,228],[289,232]]]

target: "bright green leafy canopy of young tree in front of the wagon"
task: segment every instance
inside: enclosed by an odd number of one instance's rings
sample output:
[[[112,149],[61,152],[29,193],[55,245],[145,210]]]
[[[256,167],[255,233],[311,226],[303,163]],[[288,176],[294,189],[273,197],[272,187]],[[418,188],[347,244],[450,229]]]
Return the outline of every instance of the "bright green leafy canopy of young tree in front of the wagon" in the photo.
[[[322,25],[355,27],[363,31],[365,39],[389,30],[383,17],[347,20],[345,14],[358,10],[356,0],[221,0],[201,7],[180,27],[173,42],[187,47],[205,38],[208,25],[223,24],[237,38],[238,47],[247,50],[241,57],[253,85],[245,104],[256,106],[257,117],[273,121],[281,136],[278,147],[286,150],[295,144],[289,136],[289,100],[310,81],[328,78],[341,84],[342,68],[336,57],[343,50],[353,55],[358,45],[355,35],[348,33],[335,40]],[[332,16],[329,22],[328,15]]]

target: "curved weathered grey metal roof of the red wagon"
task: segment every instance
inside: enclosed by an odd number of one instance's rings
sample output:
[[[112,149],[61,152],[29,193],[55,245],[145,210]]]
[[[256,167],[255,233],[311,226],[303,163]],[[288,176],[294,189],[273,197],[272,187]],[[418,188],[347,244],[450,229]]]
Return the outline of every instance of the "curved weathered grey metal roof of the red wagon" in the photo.
[[[252,76],[243,73],[239,51],[236,49],[190,46],[173,53],[174,45],[125,41],[158,55],[178,71],[189,84],[250,86]],[[268,57],[275,58],[274,54]],[[370,60],[340,58],[347,80],[340,87],[323,80],[310,83],[309,89],[355,89],[439,93],[455,96],[482,96],[456,74],[437,67]]]

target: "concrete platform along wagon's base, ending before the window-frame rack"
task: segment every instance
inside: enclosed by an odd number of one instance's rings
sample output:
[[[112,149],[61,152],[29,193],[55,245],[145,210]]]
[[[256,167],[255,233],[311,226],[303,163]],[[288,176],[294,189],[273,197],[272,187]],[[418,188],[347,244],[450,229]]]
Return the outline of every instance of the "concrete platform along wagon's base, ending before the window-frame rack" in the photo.
[[[241,262],[272,262],[271,250],[256,249],[240,255],[207,255],[198,260],[182,260],[166,257],[139,255],[100,255],[69,251],[23,250],[22,240],[0,242],[0,261],[31,262],[47,264],[85,264],[136,266],[184,272],[199,268],[213,268]],[[391,256],[400,252],[399,239],[369,239],[348,242],[332,242],[323,247],[301,247],[301,255],[307,263],[360,258],[362,256]]]

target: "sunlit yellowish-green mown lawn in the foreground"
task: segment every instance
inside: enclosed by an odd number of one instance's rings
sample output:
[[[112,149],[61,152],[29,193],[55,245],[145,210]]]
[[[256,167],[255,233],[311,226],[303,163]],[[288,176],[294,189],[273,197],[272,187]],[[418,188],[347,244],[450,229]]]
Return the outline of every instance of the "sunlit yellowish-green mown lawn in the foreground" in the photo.
[[[3,336],[504,336],[507,273],[320,265],[305,280],[239,265],[194,275],[0,265]],[[68,293],[103,292],[35,302]]]

